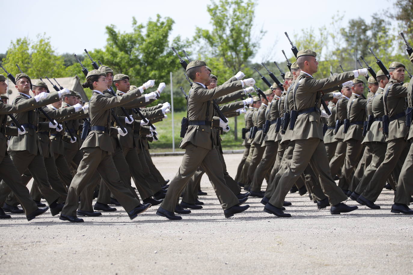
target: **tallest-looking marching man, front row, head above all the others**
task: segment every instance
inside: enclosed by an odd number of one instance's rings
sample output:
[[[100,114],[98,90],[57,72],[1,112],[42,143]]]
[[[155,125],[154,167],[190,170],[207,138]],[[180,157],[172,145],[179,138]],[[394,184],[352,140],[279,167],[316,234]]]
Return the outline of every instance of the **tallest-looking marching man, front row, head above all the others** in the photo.
[[[330,212],[340,214],[341,212],[353,211],[357,207],[349,207],[341,203],[347,200],[347,196],[335,184],[330,174],[320,121],[320,90],[323,92],[328,92],[331,89],[336,90],[337,85],[354,79],[358,74],[367,75],[367,70],[359,69],[315,80],[312,75],[317,72],[318,62],[316,53],[310,49],[298,52],[297,63],[301,73],[292,88],[294,106],[297,110],[297,120],[291,136],[291,140],[295,141],[292,160],[287,171],[281,176],[274,194],[264,207],[264,211],[280,217],[291,216],[282,211],[285,195],[309,163],[315,171],[318,171],[321,187],[330,202]]]

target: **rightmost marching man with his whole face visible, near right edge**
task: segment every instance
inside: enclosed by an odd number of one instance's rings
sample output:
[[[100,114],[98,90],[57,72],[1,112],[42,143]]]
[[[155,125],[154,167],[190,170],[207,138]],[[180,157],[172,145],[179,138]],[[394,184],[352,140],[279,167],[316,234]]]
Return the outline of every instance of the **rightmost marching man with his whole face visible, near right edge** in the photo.
[[[368,186],[357,200],[357,202],[365,204],[372,209],[380,208],[374,202],[385,187],[387,178],[396,167],[407,145],[405,137],[408,134],[408,130],[406,127],[406,113],[404,111],[407,88],[402,86],[405,68],[406,66],[403,63],[397,61],[390,63],[390,80],[386,84],[383,93],[385,115],[389,116],[388,134],[386,135],[386,155],[384,161],[375,171],[370,183],[368,183]]]

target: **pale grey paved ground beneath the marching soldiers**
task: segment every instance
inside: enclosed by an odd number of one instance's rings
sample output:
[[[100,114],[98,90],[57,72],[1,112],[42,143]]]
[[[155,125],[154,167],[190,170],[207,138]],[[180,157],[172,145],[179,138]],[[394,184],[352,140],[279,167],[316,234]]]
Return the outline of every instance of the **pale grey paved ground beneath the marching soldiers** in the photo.
[[[225,155],[231,175],[240,158]],[[166,179],[180,160],[154,157]],[[225,219],[207,179],[204,209],[181,221],[157,216],[157,207],[133,221],[118,207],[81,224],[13,214],[0,220],[0,274],[413,273],[413,220],[390,213],[391,191],[380,195],[379,210],[332,216],[295,193],[287,199],[292,218],[271,216],[250,198],[247,212]]]

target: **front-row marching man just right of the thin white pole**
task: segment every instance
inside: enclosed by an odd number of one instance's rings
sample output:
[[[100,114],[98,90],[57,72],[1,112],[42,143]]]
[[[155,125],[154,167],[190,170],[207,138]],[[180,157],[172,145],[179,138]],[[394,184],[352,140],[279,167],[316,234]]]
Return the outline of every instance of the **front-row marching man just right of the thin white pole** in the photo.
[[[193,85],[188,94],[188,129],[180,143],[180,148],[185,149],[185,154],[157,214],[168,219],[182,219],[173,212],[190,177],[201,166],[210,177],[225,217],[228,218],[245,211],[249,205],[239,206],[240,201],[225,185],[221,161],[216,150],[218,135],[217,129],[212,124],[211,101],[224,94],[238,91],[245,85],[252,86],[255,81],[252,78],[236,80],[214,89],[206,89],[206,84],[211,81],[210,71],[206,68],[206,63],[200,60],[191,61],[187,73],[193,80]]]

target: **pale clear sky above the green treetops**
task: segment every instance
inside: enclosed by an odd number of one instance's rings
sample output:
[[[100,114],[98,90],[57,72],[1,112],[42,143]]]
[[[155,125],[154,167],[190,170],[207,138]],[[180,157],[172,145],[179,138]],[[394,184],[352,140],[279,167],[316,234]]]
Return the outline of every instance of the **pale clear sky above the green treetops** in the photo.
[[[195,27],[211,28],[207,12],[209,0],[152,0],[152,1],[7,1],[1,16],[3,22],[0,52],[5,53],[10,41],[28,37],[36,39],[38,33],[51,37],[57,53],[82,53],[83,49],[102,48],[106,44],[105,26],[114,24],[120,31],[131,31],[132,16],[139,23],[146,23],[156,14],[169,16],[174,21],[172,36],[191,38]],[[254,28],[267,31],[261,48],[253,61],[261,59],[284,60],[281,49],[290,54],[290,38],[302,28],[328,25],[331,16],[344,15],[343,27],[349,19],[361,17],[370,22],[371,14],[392,6],[394,0],[375,1],[278,1],[258,0]],[[6,2],[5,2],[6,3]],[[344,5],[345,4],[345,5]],[[87,15],[88,14],[88,15]],[[6,24],[8,27],[5,27]],[[92,31],[91,31],[92,30]]]

